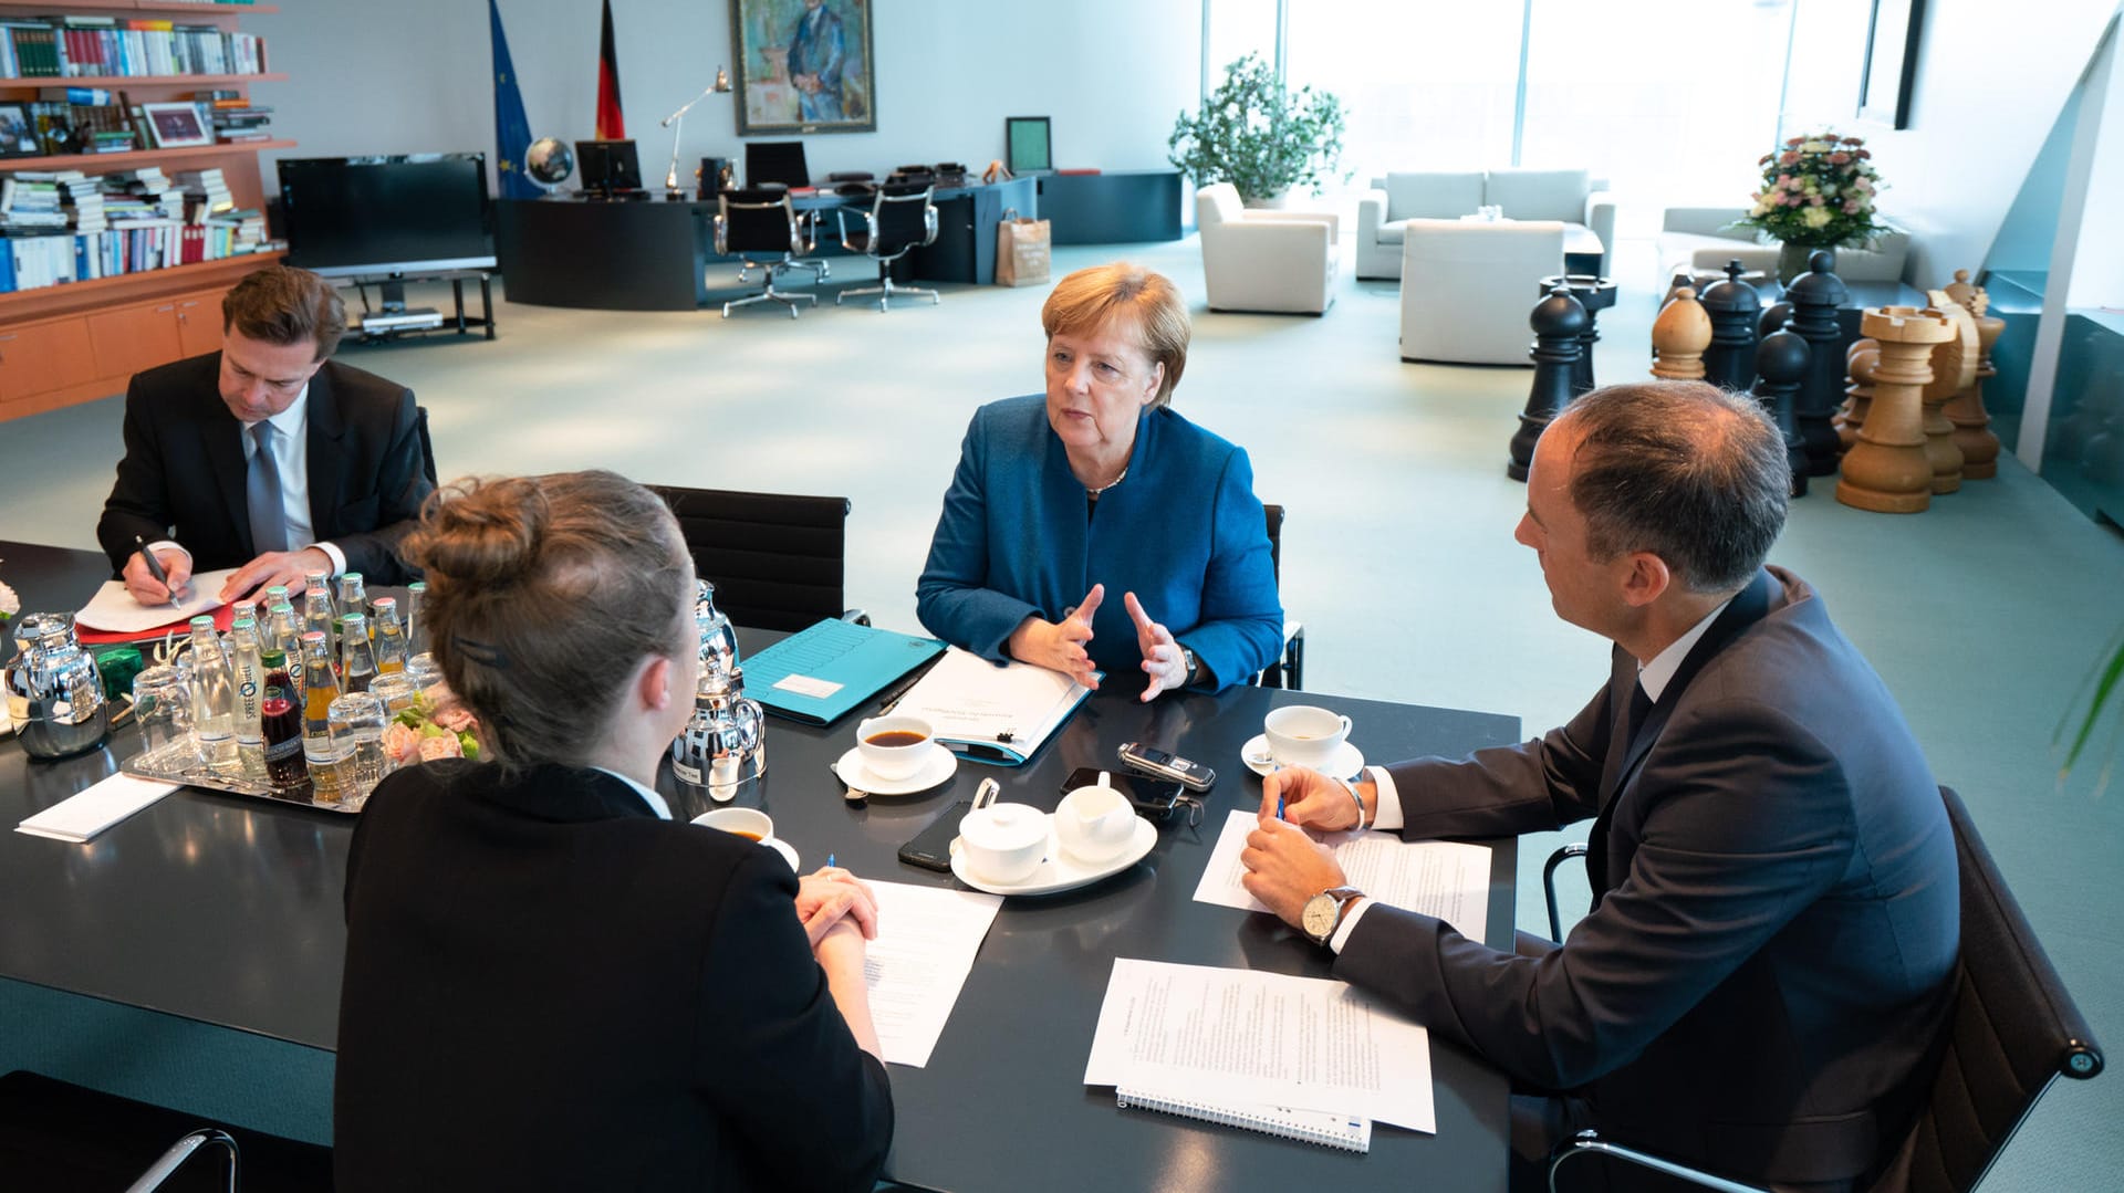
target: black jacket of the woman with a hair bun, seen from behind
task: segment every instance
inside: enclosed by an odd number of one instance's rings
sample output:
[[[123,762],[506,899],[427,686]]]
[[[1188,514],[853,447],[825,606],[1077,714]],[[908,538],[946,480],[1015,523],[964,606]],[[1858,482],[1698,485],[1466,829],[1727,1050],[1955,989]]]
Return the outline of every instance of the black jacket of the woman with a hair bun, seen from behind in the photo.
[[[867,1193],[892,1089],[794,896],[603,771],[391,775],[346,860],[340,1193]]]

